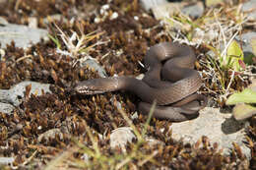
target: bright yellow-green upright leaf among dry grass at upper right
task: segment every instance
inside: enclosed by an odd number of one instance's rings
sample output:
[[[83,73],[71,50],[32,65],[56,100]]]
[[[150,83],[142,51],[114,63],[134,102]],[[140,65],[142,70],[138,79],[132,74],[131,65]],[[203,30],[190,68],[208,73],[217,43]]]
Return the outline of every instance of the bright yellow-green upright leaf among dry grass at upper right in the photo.
[[[234,69],[235,71],[242,70],[240,61],[243,61],[243,52],[239,44],[232,40],[229,46],[227,47],[226,57],[224,58],[224,63],[227,67]]]

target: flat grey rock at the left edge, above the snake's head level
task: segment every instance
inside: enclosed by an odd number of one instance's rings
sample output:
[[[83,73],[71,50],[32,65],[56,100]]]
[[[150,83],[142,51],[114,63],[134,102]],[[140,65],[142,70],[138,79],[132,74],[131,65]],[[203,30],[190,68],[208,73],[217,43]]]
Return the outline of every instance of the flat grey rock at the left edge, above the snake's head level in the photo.
[[[42,28],[29,28],[20,25],[0,25],[0,43],[5,48],[12,41],[17,47],[28,48],[31,44],[38,43],[40,39],[48,40],[48,31]]]

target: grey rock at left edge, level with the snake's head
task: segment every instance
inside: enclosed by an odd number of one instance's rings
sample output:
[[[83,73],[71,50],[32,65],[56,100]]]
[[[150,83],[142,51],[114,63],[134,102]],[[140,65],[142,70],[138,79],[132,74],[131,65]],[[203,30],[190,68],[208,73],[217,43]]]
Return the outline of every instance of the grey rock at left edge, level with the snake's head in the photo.
[[[32,93],[40,95],[42,89],[45,93],[51,92],[49,89],[49,84],[40,84],[36,82],[25,81],[18,85],[14,85],[11,89],[0,89],[0,102],[10,103],[14,106],[19,106],[23,101],[27,85],[32,85],[30,95]]]

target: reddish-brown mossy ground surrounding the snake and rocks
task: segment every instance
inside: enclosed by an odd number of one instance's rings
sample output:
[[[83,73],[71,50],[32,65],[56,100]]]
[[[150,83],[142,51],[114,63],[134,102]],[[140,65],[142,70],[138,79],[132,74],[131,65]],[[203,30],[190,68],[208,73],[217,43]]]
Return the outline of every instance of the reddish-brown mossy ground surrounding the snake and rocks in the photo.
[[[109,5],[108,13],[101,14],[101,6],[105,4]],[[111,20],[113,12],[118,13],[118,18]],[[43,22],[47,16],[55,14],[59,14],[61,19],[49,20],[48,24]],[[172,40],[164,25],[160,25],[160,21],[157,21],[151,12],[144,11],[137,0],[113,0],[110,3],[107,0],[15,0],[4,2],[0,6],[0,16],[9,23],[19,25],[29,25],[30,18],[33,17],[38,22],[38,28],[47,28],[53,36],[59,33],[55,25],[69,36],[73,31],[79,35],[96,31],[96,37],[86,45],[102,43],[94,46],[88,55],[96,59],[109,77],[138,76],[145,73],[140,62],[143,63],[148,47],[161,41]],[[95,22],[96,18],[101,22]],[[62,50],[68,50],[63,41],[60,43]],[[202,46],[195,49],[195,52],[198,54],[204,50]],[[79,59],[84,57],[82,53],[76,56],[60,54],[52,40],[34,44],[26,52],[12,43],[5,52],[5,60],[0,61],[1,88],[8,89],[12,85],[30,80],[51,84],[52,90],[52,93],[26,97],[12,115],[0,113],[0,157],[15,157],[12,168],[43,169],[55,161],[56,166],[66,169],[107,169],[112,165],[115,167],[127,157],[131,161],[121,168],[244,169],[248,166],[238,146],[234,145],[230,156],[224,156],[215,149],[217,145],[209,144],[207,138],[201,141],[202,147],[198,146],[199,143],[189,145],[174,142],[171,139],[171,132],[161,131],[171,123],[155,118],[147,128],[147,136],[164,142],[164,147],[143,142],[138,148],[136,144],[128,144],[128,153],[122,153],[120,148],[112,149],[109,146],[111,131],[117,127],[129,126],[115,103],[120,102],[125,113],[135,113],[139,102],[135,95],[128,92],[109,92],[96,96],[71,96],[67,88],[79,81],[99,76],[88,67],[80,67]],[[25,53],[32,57],[17,62]],[[77,63],[74,64],[75,62]],[[199,66],[198,69],[202,70],[203,66]],[[28,88],[27,93],[29,92]],[[131,119],[132,114],[127,116]],[[147,116],[139,113],[137,119],[131,120],[139,132],[142,132]],[[23,128],[19,129],[21,126]],[[85,150],[92,149],[96,152],[88,127],[93,132],[102,155],[96,157],[92,153],[92,163],[89,165],[81,161],[84,153],[88,153]],[[48,139],[38,140],[41,134],[52,129],[58,129],[57,133]],[[100,139],[97,134],[105,138]],[[252,156],[255,156],[255,118],[250,119],[247,135]],[[134,153],[135,147],[137,156],[131,156],[130,153]],[[59,155],[66,154],[66,150],[70,155],[59,160]],[[158,154],[151,157],[152,150],[158,150]],[[113,158],[115,155],[123,157]],[[143,155],[147,155],[148,159]],[[105,160],[105,157],[109,160]],[[147,161],[142,163],[145,159]],[[255,168],[254,161],[255,158],[249,162],[249,168]],[[0,168],[11,169],[11,166]]]

